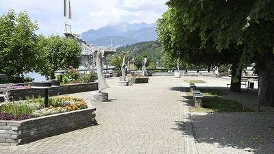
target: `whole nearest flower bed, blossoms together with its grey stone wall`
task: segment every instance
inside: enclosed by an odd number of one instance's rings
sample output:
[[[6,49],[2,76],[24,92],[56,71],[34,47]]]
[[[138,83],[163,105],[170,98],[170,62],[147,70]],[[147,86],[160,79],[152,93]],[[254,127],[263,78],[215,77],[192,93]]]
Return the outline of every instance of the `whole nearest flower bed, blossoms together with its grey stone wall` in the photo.
[[[53,97],[27,99],[0,106],[0,144],[18,145],[96,125],[95,108],[83,99]]]

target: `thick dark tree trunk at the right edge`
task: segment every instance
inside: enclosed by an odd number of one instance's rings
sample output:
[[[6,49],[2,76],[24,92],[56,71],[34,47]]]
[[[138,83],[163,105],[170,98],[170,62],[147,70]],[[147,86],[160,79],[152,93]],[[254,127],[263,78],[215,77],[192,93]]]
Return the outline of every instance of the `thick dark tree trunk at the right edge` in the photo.
[[[262,69],[258,70],[258,101],[260,105],[274,107],[274,60],[267,56],[262,63]]]

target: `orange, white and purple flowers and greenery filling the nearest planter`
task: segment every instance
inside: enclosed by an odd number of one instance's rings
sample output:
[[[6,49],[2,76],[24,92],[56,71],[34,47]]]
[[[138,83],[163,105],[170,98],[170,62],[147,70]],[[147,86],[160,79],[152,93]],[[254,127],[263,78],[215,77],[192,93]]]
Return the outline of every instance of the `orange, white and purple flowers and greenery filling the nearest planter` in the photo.
[[[49,99],[49,107],[44,107],[43,104],[41,97],[5,103],[0,107],[0,120],[25,120],[88,108],[83,99],[74,97],[53,97]]]

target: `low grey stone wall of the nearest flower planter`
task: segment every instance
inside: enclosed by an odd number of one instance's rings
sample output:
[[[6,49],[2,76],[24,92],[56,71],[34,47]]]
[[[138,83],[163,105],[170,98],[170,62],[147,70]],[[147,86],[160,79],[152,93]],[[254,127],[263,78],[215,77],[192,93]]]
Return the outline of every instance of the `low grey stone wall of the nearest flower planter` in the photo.
[[[18,145],[96,125],[95,108],[21,121],[0,120],[0,145]]]

